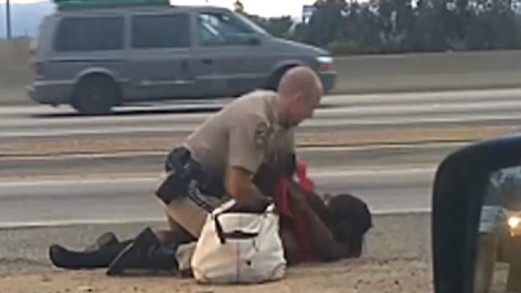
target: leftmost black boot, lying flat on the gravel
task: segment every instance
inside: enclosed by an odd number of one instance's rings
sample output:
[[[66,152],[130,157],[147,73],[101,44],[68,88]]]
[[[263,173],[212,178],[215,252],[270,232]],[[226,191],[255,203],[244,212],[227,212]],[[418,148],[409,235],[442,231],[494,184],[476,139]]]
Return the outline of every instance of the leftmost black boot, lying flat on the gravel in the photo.
[[[49,258],[58,268],[93,269],[108,268],[108,265],[132,240],[101,246],[97,251],[70,251],[59,245],[49,248]]]

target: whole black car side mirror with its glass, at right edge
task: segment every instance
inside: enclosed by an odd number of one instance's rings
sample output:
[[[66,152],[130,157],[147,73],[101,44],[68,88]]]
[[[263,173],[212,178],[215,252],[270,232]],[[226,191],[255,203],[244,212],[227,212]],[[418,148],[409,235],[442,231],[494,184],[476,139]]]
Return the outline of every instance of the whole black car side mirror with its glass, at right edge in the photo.
[[[440,163],[432,202],[435,293],[521,292],[521,219],[505,211],[521,200],[520,149],[521,135],[500,137]]]

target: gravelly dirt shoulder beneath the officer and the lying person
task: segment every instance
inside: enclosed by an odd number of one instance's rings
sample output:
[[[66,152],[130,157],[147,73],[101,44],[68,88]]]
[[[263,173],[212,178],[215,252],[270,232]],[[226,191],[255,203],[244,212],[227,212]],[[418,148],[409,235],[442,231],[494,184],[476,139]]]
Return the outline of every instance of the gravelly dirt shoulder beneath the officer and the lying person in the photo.
[[[197,285],[175,276],[130,275],[107,277],[104,270],[64,271],[47,260],[50,243],[80,247],[102,231],[132,236],[143,224],[87,225],[0,230],[0,292],[374,292],[427,293],[433,291],[430,260],[430,215],[374,217],[365,254],[356,260],[299,265],[284,280],[264,285]],[[160,224],[157,224],[159,226]],[[155,226],[155,225],[151,225]]]

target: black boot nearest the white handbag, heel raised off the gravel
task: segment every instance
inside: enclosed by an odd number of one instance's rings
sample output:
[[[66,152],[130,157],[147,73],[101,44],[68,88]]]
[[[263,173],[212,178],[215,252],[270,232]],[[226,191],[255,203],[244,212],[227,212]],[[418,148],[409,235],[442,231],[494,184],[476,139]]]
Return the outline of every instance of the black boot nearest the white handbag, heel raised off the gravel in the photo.
[[[176,244],[167,246],[157,239],[150,228],[144,229],[110,263],[107,275],[121,275],[127,268],[174,272],[178,269],[176,249]]]

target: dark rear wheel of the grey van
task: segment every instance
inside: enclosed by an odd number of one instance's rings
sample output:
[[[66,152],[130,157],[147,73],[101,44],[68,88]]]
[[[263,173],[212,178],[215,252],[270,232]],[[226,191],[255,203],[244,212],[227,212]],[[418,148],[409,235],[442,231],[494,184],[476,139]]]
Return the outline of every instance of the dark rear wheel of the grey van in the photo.
[[[85,115],[108,114],[119,99],[113,79],[103,75],[86,76],[74,90],[72,107]]]

